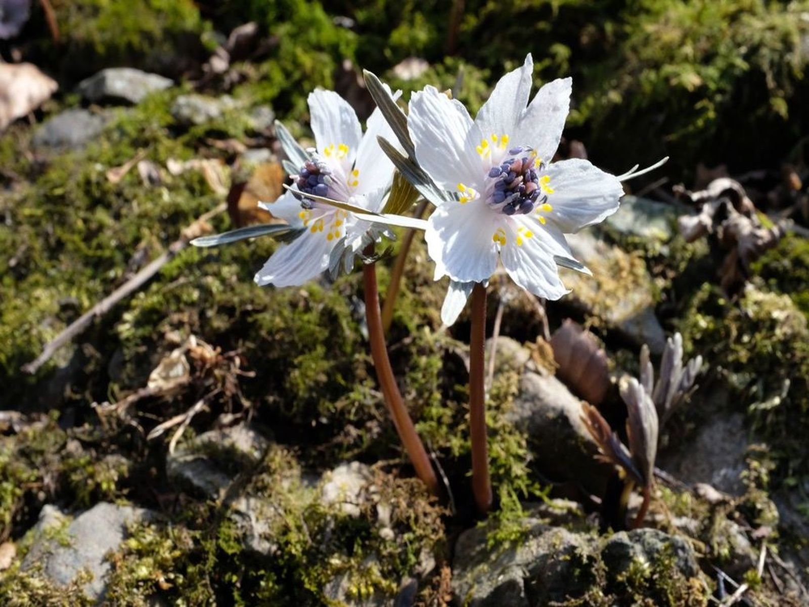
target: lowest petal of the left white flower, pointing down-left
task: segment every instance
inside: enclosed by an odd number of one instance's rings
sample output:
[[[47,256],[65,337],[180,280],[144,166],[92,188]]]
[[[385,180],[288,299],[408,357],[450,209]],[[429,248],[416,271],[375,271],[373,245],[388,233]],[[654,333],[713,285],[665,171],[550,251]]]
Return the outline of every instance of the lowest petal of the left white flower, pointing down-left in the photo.
[[[305,231],[290,244],[280,245],[256,274],[260,286],[302,285],[328,268],[328,257],[337,240],[328,240],[326,231]]]

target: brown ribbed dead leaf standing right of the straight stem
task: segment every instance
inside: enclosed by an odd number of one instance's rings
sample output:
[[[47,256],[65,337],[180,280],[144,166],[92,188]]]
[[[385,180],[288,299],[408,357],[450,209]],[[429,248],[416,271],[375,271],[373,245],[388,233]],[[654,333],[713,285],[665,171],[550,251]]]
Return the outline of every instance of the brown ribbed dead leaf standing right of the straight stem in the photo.
[[[607,354],[595,336],[573,320],[565,320],[551,337],[557,376],[579,397],[599,405],[610,386]]]

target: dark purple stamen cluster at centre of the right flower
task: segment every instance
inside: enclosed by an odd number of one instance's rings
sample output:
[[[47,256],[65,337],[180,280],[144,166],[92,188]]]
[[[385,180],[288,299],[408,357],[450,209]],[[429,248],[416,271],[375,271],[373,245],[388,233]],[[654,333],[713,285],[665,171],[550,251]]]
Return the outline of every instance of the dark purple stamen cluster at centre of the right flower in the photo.
[[[527,154],[530,149],[512,147],[508,151],[509,157],[489,171],[489,177],[497,180],[489,204],[501,207],[506,215],[531,213],[537,204],[547,198],[540,188],[534,155]]]

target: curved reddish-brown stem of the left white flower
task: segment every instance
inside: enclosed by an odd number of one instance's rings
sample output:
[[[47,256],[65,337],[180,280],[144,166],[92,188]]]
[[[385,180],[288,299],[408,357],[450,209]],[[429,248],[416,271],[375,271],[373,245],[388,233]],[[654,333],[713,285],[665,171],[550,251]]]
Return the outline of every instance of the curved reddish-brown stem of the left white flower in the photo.
[[[373,255],[373,245],[366,249],[366,255]],[[438,495],[438,478],[435,476],[430,457],[418,437],[416,427],[404,405],[396,378],[393,376],[388,349],[385,346],[385,333],[382,329],[382,312],[379,310],[379,290],[376,284],[376,268],[374,264],[362,265],[362,282],[365,286],[365,314],[368,323],[368,339],[371,342],[371,356],[374,359],[376,377],[391,412],[393,425],[404,445],[416,475],[434,495]]]

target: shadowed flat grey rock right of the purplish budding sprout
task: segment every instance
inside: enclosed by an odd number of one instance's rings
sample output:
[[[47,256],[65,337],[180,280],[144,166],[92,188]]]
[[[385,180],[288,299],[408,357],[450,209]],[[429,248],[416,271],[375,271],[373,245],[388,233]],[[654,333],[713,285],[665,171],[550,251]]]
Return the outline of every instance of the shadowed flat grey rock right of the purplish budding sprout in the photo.
[[[694,439],[660,458],[660,467],[688,484],[707,483],[730,494],[742,495],[741,473],[748,449],[743,414],[718,413],[697,431]]]

